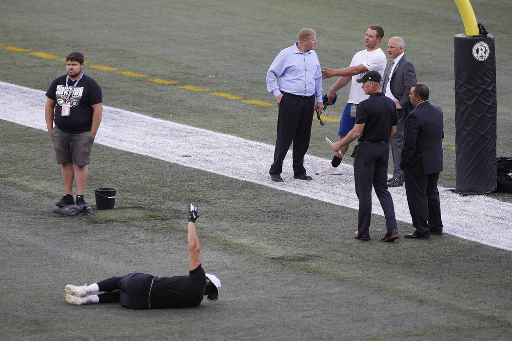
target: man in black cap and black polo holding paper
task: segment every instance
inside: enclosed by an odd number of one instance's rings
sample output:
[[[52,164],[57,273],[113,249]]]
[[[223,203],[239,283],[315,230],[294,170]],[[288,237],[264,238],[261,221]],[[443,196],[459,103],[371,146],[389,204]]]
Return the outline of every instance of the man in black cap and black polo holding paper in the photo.
[[[339,150],[359,138],[355,150],[354,178],[355,192],[359,198],[357,231],[354,238],[370,240],[372,215],[372,186],[386,217],[388,231],[381,241],[394,242],[398,239],[393,198],[388,192],[389,142],[395,137],[397,113],[395,103],[381,91],[382,77],[377,71],[367,72],[357,79],[370,98],[359,103],[355,125],[347,136],[332,144]]]

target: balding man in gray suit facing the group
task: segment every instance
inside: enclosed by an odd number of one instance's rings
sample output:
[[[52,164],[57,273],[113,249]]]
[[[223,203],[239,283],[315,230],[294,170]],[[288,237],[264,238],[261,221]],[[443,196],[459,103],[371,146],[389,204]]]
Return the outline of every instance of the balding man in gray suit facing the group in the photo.
[[[416,84],[416,71],[414,65],[404,53],[405,43],[400,37],[390,38],[388,41],[388,57],[391,66],[384,78],[382,92],[395,102],[398,113],[398,125],[395,138],[391,141],[393,155],[393,176],[388,179],[388,187],[398,187],[403,184],[403,171],[400,168],[402,155],[403,127],[407,115],[414,107],[409,100],[411,87]]]

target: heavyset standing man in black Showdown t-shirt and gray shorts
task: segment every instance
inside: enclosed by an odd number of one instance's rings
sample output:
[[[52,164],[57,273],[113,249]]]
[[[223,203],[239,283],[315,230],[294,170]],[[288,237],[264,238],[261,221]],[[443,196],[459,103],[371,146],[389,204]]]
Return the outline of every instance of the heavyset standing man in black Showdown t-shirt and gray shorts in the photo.
[[[101,88],[82,73],[83,54],[75,51],[66,57],[67,74],[56,78],[46,92],[45,119],[64,186],[64,196],[55,206],[86,206],[86,187],[91,148],[103,112]],[[53,125],[55,121],[55,126]]]

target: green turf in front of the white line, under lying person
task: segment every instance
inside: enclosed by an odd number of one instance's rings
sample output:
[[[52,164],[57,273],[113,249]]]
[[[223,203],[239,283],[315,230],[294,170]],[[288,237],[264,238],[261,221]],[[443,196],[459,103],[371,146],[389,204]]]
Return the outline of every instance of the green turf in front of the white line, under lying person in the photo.
[[[7,122],[0,132],[5,339],[499,339],[512,329],[508,251],[449,235],[355,241],[354,210],[101,145],[89,184],[119,187],[115,209],[60,216],[47,133]],[[172,311],[64,301],[68,283],[186,274],[188,201],[200,203],[219,301]],[[372,222],[382,234],[383,217]]]

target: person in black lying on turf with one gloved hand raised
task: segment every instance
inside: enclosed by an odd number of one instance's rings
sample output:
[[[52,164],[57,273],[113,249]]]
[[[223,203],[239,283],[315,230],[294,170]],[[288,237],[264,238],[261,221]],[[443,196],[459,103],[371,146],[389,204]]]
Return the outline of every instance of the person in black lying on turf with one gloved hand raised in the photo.
[[[66,301],[83,305],[119,302],[131,309],[187,308],[201,303],[203,295],[215,301],[219,297],[220,280],[205,274],[199,258],[199,239],[196,232],[197,205],[188,206],[188,276],[158,278],[133,272],[124,277],[112,277],[91,285],[64,287]],[[97,294],[99,291],[105,291]]]

